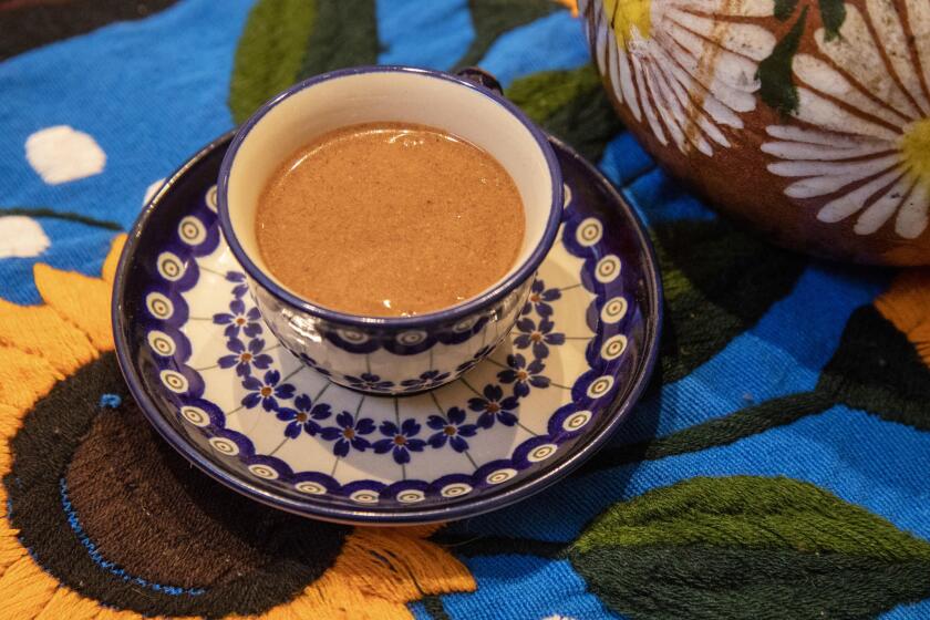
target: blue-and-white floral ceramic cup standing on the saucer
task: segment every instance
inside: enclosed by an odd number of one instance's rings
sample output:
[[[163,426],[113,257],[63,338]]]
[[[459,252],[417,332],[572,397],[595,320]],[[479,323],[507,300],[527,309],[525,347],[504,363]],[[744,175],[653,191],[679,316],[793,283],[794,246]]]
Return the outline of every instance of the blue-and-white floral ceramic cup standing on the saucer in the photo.
[[[475,83],[487,82],[476,80],[474,70],[464,75],[363,66],[312,78],[262,105],[224,157],[217,194],[220,228],[261,316],[281,344],[335,383],[403,394],[454,381],[513,328],[556,238],[562,179],[546,136],[500,94]],[[462,136],[492,154],[514,178],[526,213],[523,246],[514,267],[478,296],[415,317],[364,317],[318,306],[267,269],[258,251],[255,214],[268,178],[313,137],[378,121],[431,125]]]

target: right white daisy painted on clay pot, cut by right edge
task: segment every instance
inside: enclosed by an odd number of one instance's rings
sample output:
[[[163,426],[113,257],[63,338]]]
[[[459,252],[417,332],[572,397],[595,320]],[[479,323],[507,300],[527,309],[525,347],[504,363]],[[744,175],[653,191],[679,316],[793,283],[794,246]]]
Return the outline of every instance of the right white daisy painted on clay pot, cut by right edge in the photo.
[[[913,239],[927,229],[930,207],[930,1],[865,6],[871,30],[846,4],[839,37],[815,33],[823,56],[795,56],[793,116],[809,127],[768,126],[775,140],[762,149],[783,159],[769,172],[798,178],[787,196],[829,198],[820,221],[859,214],[854,230],[870,235],[897,213],[895,231]]]

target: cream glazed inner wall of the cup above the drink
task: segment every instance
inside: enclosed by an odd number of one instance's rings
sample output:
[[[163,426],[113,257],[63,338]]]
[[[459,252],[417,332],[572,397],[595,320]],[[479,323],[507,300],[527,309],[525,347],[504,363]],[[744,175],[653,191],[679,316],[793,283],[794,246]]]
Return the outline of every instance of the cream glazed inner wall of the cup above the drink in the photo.
[[[323,308],[298,296],[265,265],[255,217],[268,179],[285,159],[314,137],[348,125],[379,121],[417,123],[455,134],[493,155],[513,177],[526,217],[520,252],[510,270],[477,296],[415,317],[361,317]],[[283,301],[348,324],[403,326],[422,323],[432,316],[447,319],[450,311],[467,308],[495,291],[504,293],[531,275],[555,238],[561,209],[561,178],[545,136],[503,97],[445,73],[371,66],[310,79],[262,106],[242,126],[227,152],[218,202],[224,232],[234,254],[252,279]],[[312,217],[310,207],[308,217]]]

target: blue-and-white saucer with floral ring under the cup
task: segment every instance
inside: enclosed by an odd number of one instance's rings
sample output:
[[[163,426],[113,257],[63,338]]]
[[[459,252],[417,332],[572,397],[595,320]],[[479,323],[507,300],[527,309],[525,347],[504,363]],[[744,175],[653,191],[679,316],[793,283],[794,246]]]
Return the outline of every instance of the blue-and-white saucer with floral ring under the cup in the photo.
[[[454,383],[392,397],[331,383],[262,323],[217,224],[229,141],[196,155],[145,208],[113,296],[133,395],[206,473],[324,519],[454,519],[554,483],[629,415],[655,359],[661,286],[636,215],[568,147],[551,143],[562,221],[516,329]]]

